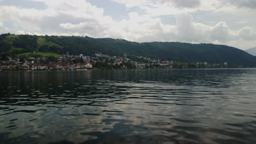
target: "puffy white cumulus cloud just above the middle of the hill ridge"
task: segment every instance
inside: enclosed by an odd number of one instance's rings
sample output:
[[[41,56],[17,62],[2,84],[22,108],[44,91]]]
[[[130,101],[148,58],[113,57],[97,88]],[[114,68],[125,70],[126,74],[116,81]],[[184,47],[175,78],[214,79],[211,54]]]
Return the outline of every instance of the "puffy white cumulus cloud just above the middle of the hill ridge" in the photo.
[[[167,41],[174,37],[172,25],[164,25],[159,18],[138,13],[130,13],[129,19],[115,22],[108,33],[114,38],[132,41]]]

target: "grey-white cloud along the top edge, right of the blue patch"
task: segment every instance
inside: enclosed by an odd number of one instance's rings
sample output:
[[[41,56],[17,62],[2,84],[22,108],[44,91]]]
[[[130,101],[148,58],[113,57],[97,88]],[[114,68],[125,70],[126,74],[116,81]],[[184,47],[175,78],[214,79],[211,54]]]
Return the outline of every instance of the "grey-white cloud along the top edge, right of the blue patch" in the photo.
[[[112,0],[125,4],[127,8],[137,7],[152,16],[194,13],[199,10],[214,10],[221,6],[219,0]]]

